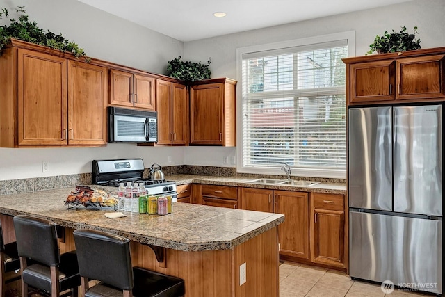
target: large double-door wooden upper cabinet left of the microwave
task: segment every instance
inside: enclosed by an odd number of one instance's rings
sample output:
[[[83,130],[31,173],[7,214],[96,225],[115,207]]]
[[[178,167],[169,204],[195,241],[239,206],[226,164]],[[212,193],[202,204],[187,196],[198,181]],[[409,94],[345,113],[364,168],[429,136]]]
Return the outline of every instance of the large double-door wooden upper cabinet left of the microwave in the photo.
[[[0,77],[1,147],[106,144],[106,67],[13,40]]]

